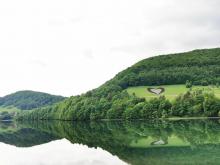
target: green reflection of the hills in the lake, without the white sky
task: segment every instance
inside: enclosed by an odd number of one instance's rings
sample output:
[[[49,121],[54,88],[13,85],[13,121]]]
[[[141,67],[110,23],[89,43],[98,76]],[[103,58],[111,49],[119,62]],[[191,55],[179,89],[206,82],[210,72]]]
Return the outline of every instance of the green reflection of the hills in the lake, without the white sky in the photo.
[[[155,122],[32,122],[22,129],[0,133],[0,141],[30,146],[66,138],[72,143],[101,147],[134,165],[216,164],[220,153],[217,120]],[[27,133],[28,132],[28,133]],[[14,138],[12,138],[14,136]],[[26,138],[21,141],[22,136]],[[17,139],[16,139],[17,138]],[[7,141],[6,141],[7,140]],[[18,141],[18,144],[16,142]],[[25,141],[27,144],[25,144]],[[153,142],[166,144],[152,145]]]

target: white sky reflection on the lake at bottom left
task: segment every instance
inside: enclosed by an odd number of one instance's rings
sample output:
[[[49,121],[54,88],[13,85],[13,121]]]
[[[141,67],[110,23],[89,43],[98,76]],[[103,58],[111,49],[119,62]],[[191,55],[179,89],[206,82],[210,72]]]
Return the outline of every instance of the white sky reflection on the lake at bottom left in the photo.
[[[0,163],[4,165],[126,164],[117,156],[113,156],[101,148],[95,149],[85,145],[71,144],[66,139],[56,140],[29,148],[17,148],[0,143],[0,154]]]

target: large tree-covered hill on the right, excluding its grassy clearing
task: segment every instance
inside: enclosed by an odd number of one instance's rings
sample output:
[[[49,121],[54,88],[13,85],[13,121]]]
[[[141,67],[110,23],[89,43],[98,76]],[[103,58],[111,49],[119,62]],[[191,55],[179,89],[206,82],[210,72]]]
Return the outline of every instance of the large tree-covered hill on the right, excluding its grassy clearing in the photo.
[[[213,93],[191,91],[173,102],[165,97],[150,101],[129,95],[131,86],[220,83],[220,48],[151,57],[120,72],[97,89],[60,104],[22,114],[19,119],[140,119],[170,116],[220,115],[220,100]],[[218,85],[219,86],[219,85]]]

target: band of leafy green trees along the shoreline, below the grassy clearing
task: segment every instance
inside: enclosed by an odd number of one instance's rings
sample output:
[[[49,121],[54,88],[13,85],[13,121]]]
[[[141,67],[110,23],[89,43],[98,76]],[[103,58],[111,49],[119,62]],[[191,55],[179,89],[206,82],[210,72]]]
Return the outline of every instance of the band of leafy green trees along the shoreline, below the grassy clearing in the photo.
[[[218,117],[220,99],[211,92],[188,91],[173,102],[164,96],[146,101],[130,96],[126,91],[105,98],[73,97],[61,104],[21,114],[18,119],[29,120],[98,120],[98,119],[156,119],[167,117]]]

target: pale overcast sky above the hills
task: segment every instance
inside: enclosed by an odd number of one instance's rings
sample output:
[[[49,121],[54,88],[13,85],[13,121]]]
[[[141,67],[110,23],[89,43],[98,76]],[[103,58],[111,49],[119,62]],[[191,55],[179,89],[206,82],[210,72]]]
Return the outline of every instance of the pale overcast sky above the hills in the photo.
[[[70,96],[137,61],[218,47],[219,0],[0,0],[0,96]]]

